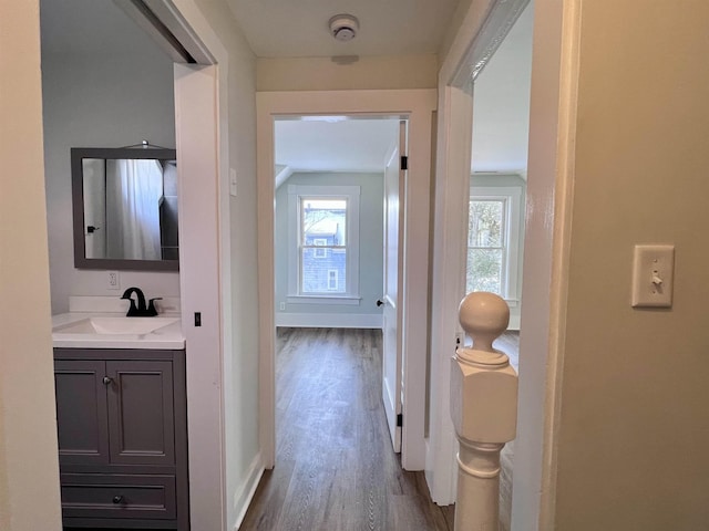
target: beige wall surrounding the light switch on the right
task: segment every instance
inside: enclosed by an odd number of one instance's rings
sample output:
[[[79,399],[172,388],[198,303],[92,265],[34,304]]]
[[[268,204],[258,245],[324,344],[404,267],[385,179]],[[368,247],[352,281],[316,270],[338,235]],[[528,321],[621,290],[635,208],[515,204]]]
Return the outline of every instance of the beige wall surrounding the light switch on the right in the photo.
[[[709,3],[582,9],[556,529],[707,529]],[[671,310],[630,308],[644,242]]]

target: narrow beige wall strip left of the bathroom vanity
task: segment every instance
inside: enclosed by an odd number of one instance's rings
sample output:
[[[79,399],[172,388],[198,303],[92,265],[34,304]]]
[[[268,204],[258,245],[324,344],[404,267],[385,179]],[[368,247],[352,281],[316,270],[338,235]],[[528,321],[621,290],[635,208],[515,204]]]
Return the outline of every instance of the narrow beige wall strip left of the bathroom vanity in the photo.
[[[0,529],[61,529],[39,3],[0,1]]]

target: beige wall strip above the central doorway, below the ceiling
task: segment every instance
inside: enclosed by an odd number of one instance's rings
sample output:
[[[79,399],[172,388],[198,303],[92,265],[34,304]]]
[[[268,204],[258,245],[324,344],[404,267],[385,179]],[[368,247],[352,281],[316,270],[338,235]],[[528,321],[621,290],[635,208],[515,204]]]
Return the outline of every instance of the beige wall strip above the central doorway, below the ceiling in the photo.
[[[257,91],[341,91],[435,88],[438,58],[399,55],[354,58],[258,59]]]

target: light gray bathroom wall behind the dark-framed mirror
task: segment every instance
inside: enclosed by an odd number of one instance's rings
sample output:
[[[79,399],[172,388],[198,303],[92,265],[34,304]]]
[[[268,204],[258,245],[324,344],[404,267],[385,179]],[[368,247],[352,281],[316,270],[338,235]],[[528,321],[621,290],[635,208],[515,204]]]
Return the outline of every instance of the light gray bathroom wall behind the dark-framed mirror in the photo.
[[[147,35],[144,39],[141,54],[42,50],[53,314],[68,311],[69,295],[121,294],[107,289],[104,271],[74,269],[70,149],[123,147],[144,138],[175,146],[173,63]],[[179,295],[176,272],[121,271],[120,283],[137,285],[151,296]]]

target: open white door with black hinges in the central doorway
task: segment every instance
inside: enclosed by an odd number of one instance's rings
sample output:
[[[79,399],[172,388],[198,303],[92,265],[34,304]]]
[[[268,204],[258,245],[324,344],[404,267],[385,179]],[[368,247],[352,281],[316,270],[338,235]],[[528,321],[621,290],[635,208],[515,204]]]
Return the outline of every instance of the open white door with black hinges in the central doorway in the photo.
[[[405,169],[402,169],[401,157],[405,154],[407,123],[399,124],[399,142],[394,147],[384,169],[384,285],[383,296],[378,304],[383,304],[382,313],[382,398],[389,433],[395,452],[401,451],[401,308],[402,293],[400,266],[403,250],[403,186]]]

